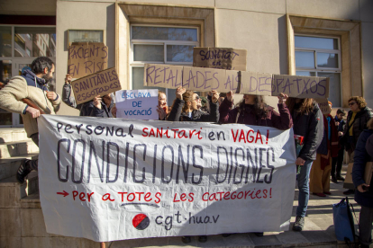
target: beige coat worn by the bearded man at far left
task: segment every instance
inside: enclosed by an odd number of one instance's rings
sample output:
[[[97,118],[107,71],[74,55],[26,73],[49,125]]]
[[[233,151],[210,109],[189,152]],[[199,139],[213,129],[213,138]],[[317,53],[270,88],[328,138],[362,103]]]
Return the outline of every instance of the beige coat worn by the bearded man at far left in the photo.
[[[0,108],[5,111],[11,111],[21,114],[23,118],[24,129],[27,137],[39,132],[38,123],[30,114],[23,114],[23,110],[27,104],[22,102],[23,98],[28,98],[34,102],[46,114],[56,114],[59,111],[59,103],[61,97],[56,101],[51,101],[47,98],[47,92],[40,88],[27,85],[26,80],[22,76],[14,76],[5,87],[0,90]]]

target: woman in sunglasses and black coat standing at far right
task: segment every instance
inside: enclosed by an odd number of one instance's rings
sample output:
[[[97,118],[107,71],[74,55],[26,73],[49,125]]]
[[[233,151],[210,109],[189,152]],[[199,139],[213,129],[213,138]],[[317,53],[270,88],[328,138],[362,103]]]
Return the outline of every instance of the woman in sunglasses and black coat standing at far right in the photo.
[[[352,96],[349,99],[350,111],[347,115],[347,124],[343,130],[342,143],[350,158],[353,158],[356,144],[359,136],[364,129],[367,129],[367,123],[373,117],[373,111],[367,107],[365,99],[361,96]],[[355,190],[346,190],[345,195],[353,194]]]

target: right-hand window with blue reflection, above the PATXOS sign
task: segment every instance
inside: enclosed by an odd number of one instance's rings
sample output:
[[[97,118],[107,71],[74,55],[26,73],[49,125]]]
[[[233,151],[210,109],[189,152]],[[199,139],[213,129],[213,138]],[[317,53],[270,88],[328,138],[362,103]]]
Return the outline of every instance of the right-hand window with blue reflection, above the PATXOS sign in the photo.
[[[338,38],[295,36],[296,75],[330,78],[329,101],[341,107],[341,45]]]

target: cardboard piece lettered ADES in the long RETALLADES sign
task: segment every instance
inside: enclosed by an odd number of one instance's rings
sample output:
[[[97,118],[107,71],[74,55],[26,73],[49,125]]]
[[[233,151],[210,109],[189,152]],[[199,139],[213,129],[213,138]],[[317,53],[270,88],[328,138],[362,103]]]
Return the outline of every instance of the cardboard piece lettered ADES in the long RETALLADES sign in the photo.
[[[183,87],[187,90],[223,92],[225,80],[225,70],[190,66],[183,68]]]

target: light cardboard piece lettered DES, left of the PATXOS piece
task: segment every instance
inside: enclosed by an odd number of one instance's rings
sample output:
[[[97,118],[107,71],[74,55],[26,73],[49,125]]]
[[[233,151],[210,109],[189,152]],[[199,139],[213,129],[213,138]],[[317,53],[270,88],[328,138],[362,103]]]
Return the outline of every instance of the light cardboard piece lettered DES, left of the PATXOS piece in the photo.
[[[241,72],[240,93],[271,95],[272,75],[265,73]]]

